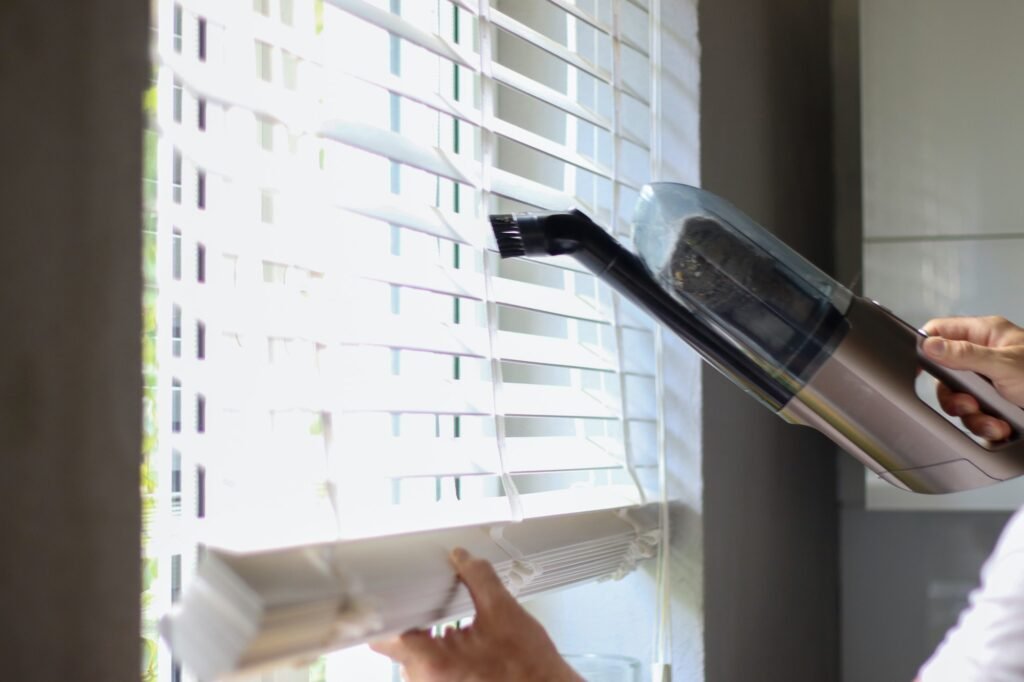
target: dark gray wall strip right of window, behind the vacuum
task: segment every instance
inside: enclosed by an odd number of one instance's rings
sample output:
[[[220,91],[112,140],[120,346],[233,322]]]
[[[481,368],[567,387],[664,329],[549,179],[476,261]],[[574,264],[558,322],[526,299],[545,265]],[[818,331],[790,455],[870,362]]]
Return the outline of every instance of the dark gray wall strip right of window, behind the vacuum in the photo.
[[[699,5],[701,176],[826,270],[829,3]],[[708,682],[839,675],[835,449],[705,370]]]

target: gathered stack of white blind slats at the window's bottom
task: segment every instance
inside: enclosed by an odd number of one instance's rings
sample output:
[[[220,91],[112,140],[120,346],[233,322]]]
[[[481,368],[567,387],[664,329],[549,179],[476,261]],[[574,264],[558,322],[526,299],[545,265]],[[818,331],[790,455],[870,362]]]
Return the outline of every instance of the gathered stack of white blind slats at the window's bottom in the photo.
[[[520,598],[633,569],[658,542],[656,509],[527,519],[508,526],[325,543],[250,554],[211,551],[163,630],[201,679],[217,679],[472,611],[444,548],[488,559]],[[509,556],[508,547],[517,553]],[[410,564],[416,579],[410,580]]]

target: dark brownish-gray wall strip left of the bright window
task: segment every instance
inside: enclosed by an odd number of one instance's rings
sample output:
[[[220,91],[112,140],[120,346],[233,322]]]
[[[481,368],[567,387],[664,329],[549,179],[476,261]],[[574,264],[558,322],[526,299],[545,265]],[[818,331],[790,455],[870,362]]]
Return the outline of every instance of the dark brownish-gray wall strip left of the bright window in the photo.
[[[0,3],[5,679],[139,674],[147,33],[137,0]]]

